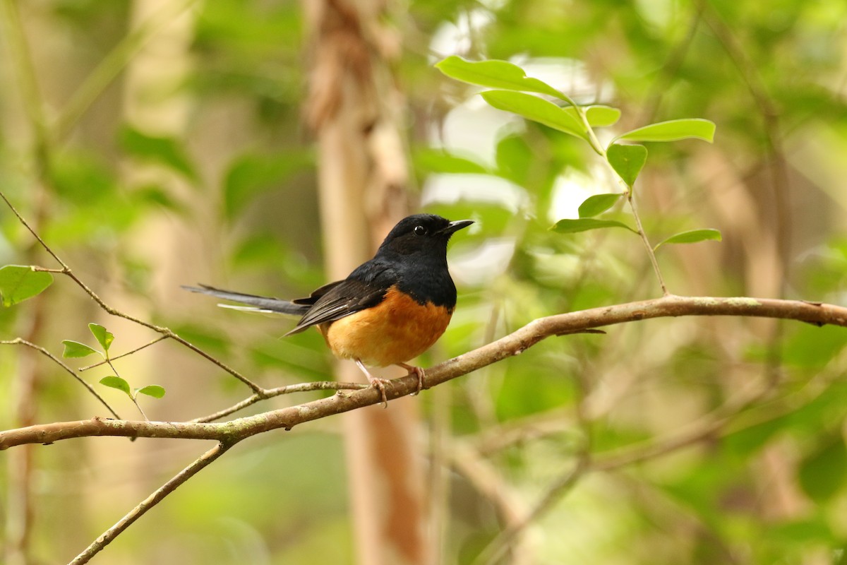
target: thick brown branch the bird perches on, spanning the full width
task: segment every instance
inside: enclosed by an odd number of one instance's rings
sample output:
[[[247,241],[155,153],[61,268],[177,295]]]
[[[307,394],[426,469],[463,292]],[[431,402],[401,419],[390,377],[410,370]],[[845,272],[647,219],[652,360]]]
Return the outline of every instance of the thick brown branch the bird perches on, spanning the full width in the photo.
[[[628,302],[536,319],[497,341],[427,369],[424,387],[440,385],[491,363],[519,355],[551,335],[567,335],[607,325],[676,316],[779,318],[816,325],[832,324],[847,327],[847,307],[832,304],[771,298],[662,296],[655,300]],[[409,375],[392,381],[386,393],[389,399],[394,399],[407,396],[417,388],[417,377]],[[230,443],[271,429],[291,429],[297,424],[348,412],[379,401],[379,391],[368,388],[215,424],[135,422],[105,418],[40,424],[0,432],[0,450],[29,443],[48,444],[58,440],[92,435],[219,440]]]

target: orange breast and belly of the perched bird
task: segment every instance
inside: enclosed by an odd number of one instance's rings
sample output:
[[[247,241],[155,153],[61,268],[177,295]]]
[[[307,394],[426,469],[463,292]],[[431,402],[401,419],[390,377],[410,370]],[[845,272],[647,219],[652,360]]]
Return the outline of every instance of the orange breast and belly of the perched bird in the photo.
[[[446,307],[418,304],[392,286],[375,307],[321,324],[318,330],[336,357],[385,367],[428,350],[447,329],[451,316]]]

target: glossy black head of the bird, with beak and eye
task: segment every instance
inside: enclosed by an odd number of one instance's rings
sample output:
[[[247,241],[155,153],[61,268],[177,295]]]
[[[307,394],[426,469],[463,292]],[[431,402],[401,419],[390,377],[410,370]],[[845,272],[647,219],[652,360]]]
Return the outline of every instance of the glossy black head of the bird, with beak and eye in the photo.
[[[432,213],[416,213],[401,219],[394,226],[379,246],[379,252],[429,257],[435,255],[446,261],[450,236],[470,224],[473,224],[473,220],[451,222]]]

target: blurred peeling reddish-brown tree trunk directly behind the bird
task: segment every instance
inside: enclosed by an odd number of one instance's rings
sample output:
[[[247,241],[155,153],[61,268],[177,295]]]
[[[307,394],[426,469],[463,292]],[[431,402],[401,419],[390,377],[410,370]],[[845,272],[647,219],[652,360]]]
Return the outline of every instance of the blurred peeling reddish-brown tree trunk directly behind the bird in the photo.
[[[318,139],[327,272],[337,280],[370,258],[407,213],[404,101],[391,69],[399,36],[385,25],[389,8],[382,0],[311,0],[303,7],[311,32],[305,111]],[[336,376],[363,379],[349,362],[340,363]],[[403,398],[387,410],[345,415],[358,562],[428,559],[417,403]]]

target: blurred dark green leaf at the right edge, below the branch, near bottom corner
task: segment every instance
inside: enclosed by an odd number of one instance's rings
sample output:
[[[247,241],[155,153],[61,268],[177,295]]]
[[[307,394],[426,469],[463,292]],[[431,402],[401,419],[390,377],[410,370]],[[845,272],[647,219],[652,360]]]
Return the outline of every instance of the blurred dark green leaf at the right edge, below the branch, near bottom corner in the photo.
[[[800,463],[800,487],[818,503],[832,498],[847,479],[847,446],[840,431],[833,433]]]

